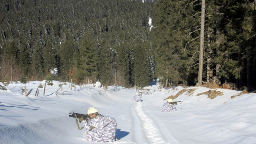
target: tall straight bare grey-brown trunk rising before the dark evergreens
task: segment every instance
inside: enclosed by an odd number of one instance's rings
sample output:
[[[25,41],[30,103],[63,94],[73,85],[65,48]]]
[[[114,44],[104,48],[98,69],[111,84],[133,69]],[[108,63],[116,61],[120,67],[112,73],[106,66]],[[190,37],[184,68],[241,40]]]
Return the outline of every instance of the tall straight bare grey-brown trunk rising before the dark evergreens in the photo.
[[[201,31],[200,31],[200,55],[199,55],[199,70],[198,70],[198,85],[202,84],[203,79],[203,61],[204,61],[204,13],[205,0],[202,0],[201,12]]]

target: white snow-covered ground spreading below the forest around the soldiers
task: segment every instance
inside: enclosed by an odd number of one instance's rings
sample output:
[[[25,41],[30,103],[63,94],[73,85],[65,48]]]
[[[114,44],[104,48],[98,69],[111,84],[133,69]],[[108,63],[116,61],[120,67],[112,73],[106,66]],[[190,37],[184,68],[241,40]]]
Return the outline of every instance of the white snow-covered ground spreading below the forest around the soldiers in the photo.
[[[214,99],[204,87],[158,89],[148,86],[152,94],[143,94],[142,102],[134,102],[136,89],[109,86],[97,82],[82,88],[69,88],[69,83],[56,92],[58,82],[36,89],[45,81],[32,81],[29,96],[20,94],[25,84],[13,83],[0,90],[0,144],[92,144],[83,140],[84,130],[78,130],[75,118],[69,113],[87,114],[94,106],[100,114],[117,122],[114,144],[256,144],[256,94],[217,89],[222,96]],[[90,86],[90,87],[89,87]],[[184,90],[186,89],[186,90]],[[191,90],[188,90],[191,89]],[[177,111],[164,113],[162,106],[168,96],[182,101]],[[142,90],[144,92],[144,90]],[[80,125],[82,126],[82,125]]]

